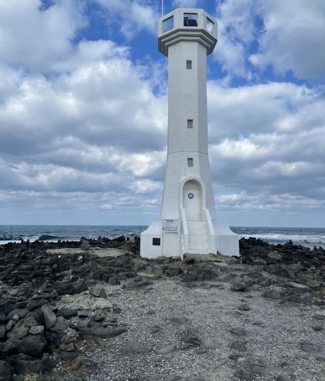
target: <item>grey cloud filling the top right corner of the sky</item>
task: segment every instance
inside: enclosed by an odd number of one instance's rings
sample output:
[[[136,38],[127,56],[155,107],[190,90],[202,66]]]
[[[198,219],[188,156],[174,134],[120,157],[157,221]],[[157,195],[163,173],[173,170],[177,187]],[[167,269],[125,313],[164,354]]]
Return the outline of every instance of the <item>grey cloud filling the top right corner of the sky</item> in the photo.
[[[258,2],[264,29],[259,49],[250,61],[261,68],[272,64],[279,74],[292,71],[295,77],[325,80],[325,4],[322,0]]]

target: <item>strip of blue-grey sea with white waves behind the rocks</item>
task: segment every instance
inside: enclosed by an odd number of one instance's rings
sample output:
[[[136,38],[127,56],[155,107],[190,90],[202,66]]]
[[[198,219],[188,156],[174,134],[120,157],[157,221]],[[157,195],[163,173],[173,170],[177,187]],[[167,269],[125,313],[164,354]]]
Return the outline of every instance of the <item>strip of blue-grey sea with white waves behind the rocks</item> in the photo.
[[[140,236],[146,228],[144,225],[0,225],[0,245],[19,243],[22,239],[56,242],[59,239],[78,241],[81,237],[116,238],[131,233]],[[233,226],[231,229],[240,238],[261,238],[269,244],[285,244],[291,239],[294,244],[325,248],[325,228]]]

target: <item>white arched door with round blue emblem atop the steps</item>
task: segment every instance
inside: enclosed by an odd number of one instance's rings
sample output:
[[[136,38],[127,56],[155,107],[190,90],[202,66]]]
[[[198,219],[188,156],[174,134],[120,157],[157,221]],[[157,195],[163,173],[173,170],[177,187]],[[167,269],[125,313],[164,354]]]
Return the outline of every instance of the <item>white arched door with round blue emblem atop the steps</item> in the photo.
[[[189,180],[184,184],[183,204],[187,221],[201,221],[201,185]]]

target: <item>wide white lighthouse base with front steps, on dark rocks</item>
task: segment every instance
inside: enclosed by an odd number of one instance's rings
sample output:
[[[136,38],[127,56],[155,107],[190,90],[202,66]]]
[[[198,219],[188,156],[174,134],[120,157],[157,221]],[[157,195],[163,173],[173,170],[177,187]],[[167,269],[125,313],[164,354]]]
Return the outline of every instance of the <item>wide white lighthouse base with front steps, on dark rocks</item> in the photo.
[[[166,223],[167,221],[167,223]],[[184,226],[185,225],[185,226]],[[218,221],[153,221],[141,233],[140,256],[180,257],[184,254],[239,255],[239,237]]]

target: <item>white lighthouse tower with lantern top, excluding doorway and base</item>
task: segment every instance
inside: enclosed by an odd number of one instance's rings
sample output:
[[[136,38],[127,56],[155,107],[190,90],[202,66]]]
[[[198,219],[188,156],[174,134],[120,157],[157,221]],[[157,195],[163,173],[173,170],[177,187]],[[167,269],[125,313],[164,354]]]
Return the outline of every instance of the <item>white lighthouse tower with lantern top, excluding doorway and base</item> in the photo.
[[[194,20],[191,26],[185,25],[185,15]],[[208,159],[207,55],[217,42],[216,21],[204,10],[178,9],[164,16],[159,32],[164,31],[164,20],[171,17],[174,28],[159,33],[158,38],[159,51],[168,56],[168,157],[161,218],[178,218],[180,184],[184,179],[197,178],[204,186],[204,207],[215,220]]]

